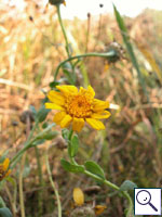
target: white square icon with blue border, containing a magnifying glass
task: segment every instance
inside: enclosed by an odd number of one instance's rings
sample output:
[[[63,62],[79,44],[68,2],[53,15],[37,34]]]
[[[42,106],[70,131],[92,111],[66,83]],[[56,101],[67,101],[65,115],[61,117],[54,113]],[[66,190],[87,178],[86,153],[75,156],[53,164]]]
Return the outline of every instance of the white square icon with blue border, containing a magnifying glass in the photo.
[[[161,189],[138,189],[134,191],[135,215],[161,215]]]

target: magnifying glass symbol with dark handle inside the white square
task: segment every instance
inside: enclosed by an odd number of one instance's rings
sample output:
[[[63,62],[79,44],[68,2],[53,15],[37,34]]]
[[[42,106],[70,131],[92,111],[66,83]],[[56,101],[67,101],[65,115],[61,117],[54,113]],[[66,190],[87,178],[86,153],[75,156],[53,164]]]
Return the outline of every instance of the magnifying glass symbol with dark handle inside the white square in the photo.
[[[151,194],[149,191],[147,190],[141,190],[138,191],[137,195],[136,195],[136,201],[138,204],[140,205],[150,205],[156,212],[158,212],[158,209],[153,206],[153,204],[151,203]]]

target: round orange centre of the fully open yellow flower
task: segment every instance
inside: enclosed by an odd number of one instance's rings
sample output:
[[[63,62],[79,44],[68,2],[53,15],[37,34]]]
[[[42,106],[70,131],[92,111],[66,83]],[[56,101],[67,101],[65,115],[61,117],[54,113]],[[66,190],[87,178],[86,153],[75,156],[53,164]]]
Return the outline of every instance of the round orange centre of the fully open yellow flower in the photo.
[[[66,110],[72,117],[85,118],[92,114],[92,102],[86,94],[69,95]]]

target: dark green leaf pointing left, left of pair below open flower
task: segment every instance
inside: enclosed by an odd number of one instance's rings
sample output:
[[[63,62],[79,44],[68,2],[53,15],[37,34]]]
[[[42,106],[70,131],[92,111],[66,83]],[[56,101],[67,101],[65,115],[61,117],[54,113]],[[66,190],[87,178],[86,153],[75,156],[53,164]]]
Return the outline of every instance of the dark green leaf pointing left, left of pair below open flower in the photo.
[[[71,173],[83,173],[84,171],[84,166],[70,164],[69,162],[67,162],[64,158],[60,159],[60,164],[66,171],[71,171]]]

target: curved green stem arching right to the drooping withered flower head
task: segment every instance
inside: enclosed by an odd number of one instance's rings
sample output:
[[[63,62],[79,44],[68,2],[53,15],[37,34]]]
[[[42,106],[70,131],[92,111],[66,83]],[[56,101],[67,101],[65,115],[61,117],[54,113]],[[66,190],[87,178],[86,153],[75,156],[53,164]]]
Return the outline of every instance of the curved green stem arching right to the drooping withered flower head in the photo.
[[[55,71],[55,75],[54,75],[54,81],[56,81],[59,68],[69,61],[76,60],[76,59],[80,59],[80,58],[86,58],[86,56],[99,56],[99,58],[112,58],[116,55],[116,51],[110,51],[108,53],[84,53],[84,54],[80,54],[80,55],[75,55],[75,56],[70,56],[67,60],[63,61],[62,63],[59,63],[59,65],[57,66],[56,71]]]

